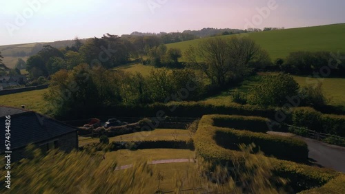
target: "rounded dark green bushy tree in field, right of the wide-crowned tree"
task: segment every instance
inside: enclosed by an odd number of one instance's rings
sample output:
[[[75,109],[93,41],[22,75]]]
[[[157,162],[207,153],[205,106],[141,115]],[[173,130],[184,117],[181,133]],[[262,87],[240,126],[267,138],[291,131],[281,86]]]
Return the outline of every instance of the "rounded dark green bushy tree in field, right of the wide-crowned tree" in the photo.
[[[282,106],[287,98],[298,94],[299,85],[289,74],[268,75],[250,89],[248,103],[263,106]]]

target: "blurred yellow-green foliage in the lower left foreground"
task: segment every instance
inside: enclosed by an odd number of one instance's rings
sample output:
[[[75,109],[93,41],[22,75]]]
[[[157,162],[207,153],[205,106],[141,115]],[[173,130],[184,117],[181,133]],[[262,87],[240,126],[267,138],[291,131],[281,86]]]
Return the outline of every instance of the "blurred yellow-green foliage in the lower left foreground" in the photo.
[[[43,155],[39,149],[29,149],[27,155],[11,171],[11,179],[17,181],[11,182],[11,189],[1,184],[1,193],[144,193],[146,185],[153,184],[146,162],[115,171],[116,162],[103,162],[97,153],[53,150]],[[5,177],[0,179],[4,182]]]

